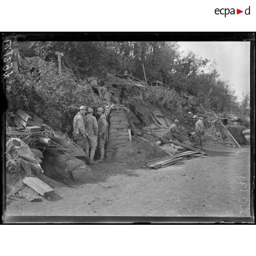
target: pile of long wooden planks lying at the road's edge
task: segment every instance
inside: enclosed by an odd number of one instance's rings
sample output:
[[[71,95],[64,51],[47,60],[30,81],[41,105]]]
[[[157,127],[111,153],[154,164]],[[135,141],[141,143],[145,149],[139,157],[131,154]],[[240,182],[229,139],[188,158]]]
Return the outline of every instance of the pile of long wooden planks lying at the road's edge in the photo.
[[[153,169],[158,169],[161,167],[167,167],[170,165],[173,165],[179,161],[182,161],[184,159],[187,159],[188,157],[202,157],[203,155],[200,154],[200,151],[186,151],[184,153],[177,154],[175,156],[167,156],[167,157],[162,157],[150,161],[146,161],[146,166],[148,168],[153,168]]]

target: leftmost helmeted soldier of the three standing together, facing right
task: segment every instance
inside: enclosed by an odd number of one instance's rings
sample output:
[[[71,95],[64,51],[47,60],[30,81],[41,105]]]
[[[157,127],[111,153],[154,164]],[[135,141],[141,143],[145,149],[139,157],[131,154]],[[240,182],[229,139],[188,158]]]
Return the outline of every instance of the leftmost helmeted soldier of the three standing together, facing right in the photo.
[[[86,106],[80,106],[79,112],[75,115],[73,120],[73,138],[79,147],[83,150],[87,141],[87,132],[85,130],[84,116],[86,113]]]

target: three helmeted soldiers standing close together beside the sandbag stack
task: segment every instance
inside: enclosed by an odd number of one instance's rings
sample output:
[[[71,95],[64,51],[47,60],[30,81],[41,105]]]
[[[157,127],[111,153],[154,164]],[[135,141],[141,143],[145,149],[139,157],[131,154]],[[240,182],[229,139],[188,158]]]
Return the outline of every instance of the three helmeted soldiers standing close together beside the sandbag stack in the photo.
[[[97,109],[96,115],[99,117],[98,121],[93,116],[91,107],[80,106],[79,112],[73,120],[73,138],[77,145],[85,151],[89,158],[89,164],[104,162],[108,123],[102,107]],[[94,161],[97,145],[100,149],[100,159]]]

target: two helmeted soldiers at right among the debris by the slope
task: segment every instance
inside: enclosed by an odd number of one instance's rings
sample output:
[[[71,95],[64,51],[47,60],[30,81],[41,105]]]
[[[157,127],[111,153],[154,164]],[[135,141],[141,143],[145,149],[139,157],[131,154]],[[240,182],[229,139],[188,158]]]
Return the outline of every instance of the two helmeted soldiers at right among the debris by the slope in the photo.
[[[191,134],[189,136],[189,139],[196,141],[200,145],[200,150],[203,150],[202,135],[204,135],[204,122],[197,115],[195,115],[192,118],[195,119],[195,134]],[[178,119],[175,119],[170,129],[174,134],[177,135],[178,139],[180,139],[180,131],[178,128],[178,123],[179,123]]]

